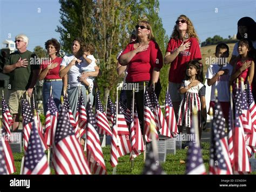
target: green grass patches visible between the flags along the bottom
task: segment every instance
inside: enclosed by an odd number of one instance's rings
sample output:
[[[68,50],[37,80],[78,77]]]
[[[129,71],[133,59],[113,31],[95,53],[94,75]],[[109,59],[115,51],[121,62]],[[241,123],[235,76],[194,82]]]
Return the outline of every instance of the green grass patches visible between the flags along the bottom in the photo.
[[[203,142],[202,143],[202,154],[203,154],[203,161],[206,167],[206,170],[209,169],[209,157],[210,157],[210,143]],[[113,168],[110,165],[110,146],[103,147],[103,154],[105,165],[107,169],[107,174],[112,174]],[[19,174],[21,169],[21,160],[24,153],[14,153],[14,160],[17,172],[14,174]],[[186,164],[181,164],[180,160],[186,161],[187,150],[177,150],[176,154],[168,154],[166,156],[166,161],[161,164],[166,174],[171,175],[183,175],[185,173]],[[131,169],[131,162],[130,162],[130,155],[125,155],[122,158],[118,158],[118,165],[117,165],[117,174],[131,174],[131,175],[138,175],[142,174],[144,167],[143,162],[143,154],[140,154],[139,157],[134,159],[134,167]],[[53,168],[51,168],[51,174],[55,174]],[[251,174],[256,174],[256,172],[252,172]]]

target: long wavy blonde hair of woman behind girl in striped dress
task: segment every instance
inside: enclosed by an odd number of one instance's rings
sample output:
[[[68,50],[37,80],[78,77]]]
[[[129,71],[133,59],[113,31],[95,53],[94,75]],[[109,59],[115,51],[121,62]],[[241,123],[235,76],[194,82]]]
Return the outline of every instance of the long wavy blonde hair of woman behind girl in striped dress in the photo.
[[[193,26],[191,20],[185,15],[180,15],[177,20],[179,20],[179,19],[186,20],[186,22],[187,22],[187,31],[186,31],[186,33],[188,34],[188,37],[197,38],[197,41],[199,42],[199,38],[197,36],[196,30],[194,30],[194,26]],[[179,39],[179,31],[177,30],[177,25],[174,25],[174,27],[173,27],[171,38]]]

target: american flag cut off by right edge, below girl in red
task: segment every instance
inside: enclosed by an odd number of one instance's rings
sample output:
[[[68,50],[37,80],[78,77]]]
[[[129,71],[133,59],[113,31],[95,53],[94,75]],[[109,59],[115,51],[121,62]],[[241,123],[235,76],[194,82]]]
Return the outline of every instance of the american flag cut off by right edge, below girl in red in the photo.
[[[251,91],[251,86],[248,83],[248,81],[247,81],[247,98],[248,98],[250,116],[252,119],[252,128],[251,128],[251,134],[247,134],[246,144],[248,146],[251,146],[253,149],[253,147],[256,147],[256,108],[255,108],[255,103],[254,103],[254,99]],[[252,152],[256,153],[255,149]]]

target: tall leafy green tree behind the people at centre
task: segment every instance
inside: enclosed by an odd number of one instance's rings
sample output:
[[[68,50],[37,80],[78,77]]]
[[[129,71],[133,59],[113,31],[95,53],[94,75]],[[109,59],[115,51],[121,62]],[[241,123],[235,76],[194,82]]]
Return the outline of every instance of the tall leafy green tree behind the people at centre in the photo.
[[[72,39],[76,37],[95,46],[95,58],[102,71],[97,83],[105,98],[109,92],[112,98],[116,95],[121,80],[116,73],[116,57],[128,44],[130,32],[139,20],[150,21],[161,51],[165,50],[168,38],[158,16],[158,1],[59,0],[59,3],[62,26],[57,26],[56,31],[60,33],[63,49],[70,53]]]

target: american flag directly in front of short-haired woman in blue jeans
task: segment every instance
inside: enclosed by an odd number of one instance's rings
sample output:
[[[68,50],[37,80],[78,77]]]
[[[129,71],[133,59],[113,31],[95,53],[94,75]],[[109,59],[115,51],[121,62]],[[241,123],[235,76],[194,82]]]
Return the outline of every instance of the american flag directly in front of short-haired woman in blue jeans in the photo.
[[[58,114],[59,112],[58,112],[57,106],[53,101],[53,97],[51,95],[47,103],[47,111],[46,111],[46,118],[45,118],[45,135],[44,135],[46,144],[49,146],[51,146],[54,143]]]

